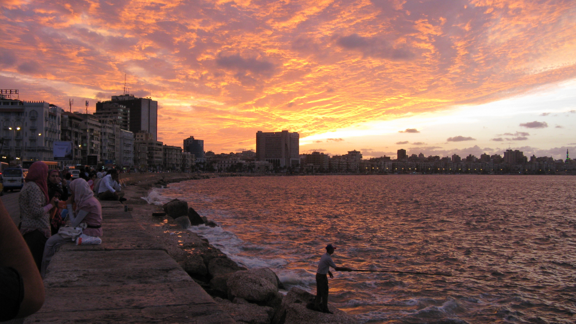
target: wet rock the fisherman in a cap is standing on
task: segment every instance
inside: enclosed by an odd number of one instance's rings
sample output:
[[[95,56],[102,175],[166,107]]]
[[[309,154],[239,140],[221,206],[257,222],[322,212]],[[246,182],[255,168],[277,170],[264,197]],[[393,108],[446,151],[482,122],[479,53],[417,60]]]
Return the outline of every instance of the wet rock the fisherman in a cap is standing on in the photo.
[[[313,311],[306,308],[308,303],[313,303],[316,296],[299,288],[292,288],[282,300],[282,304],[272,324],[357,324],[358,320],[352,315],[339,310],[328,303],[328,308],[334,314]]]

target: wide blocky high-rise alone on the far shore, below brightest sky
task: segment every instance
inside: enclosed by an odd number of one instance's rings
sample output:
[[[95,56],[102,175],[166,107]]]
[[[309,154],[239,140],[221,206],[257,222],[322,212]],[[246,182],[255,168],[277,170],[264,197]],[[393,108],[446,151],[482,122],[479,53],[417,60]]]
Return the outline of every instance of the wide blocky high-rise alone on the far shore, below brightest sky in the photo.
[[[275,167],[300,165],[300,134],[287,130],[256,133],[256,160],[268,161]]]

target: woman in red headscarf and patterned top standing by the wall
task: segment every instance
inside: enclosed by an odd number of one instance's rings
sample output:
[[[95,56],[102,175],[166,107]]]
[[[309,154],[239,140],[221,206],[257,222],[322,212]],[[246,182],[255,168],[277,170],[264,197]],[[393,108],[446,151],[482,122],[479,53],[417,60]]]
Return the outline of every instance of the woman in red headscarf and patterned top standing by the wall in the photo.
[[[20,233],[24,236],[38,269],[42,263],[44,244],[51,236],[48,212],[57,202],[56,197],[48,198],[47,178],[48,165],[42,161],[32,163],[18,197]]]

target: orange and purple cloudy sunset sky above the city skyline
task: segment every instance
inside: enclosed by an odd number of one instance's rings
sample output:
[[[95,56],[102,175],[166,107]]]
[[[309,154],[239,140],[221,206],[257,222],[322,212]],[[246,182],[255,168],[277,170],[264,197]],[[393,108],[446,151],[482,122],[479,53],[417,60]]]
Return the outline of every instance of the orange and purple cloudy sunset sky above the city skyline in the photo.
[[[576,156],[573,0],[0,0],[0,88],[66,107],[158,100],[206,150]],[[81,110],[76,105],[73,110]]]

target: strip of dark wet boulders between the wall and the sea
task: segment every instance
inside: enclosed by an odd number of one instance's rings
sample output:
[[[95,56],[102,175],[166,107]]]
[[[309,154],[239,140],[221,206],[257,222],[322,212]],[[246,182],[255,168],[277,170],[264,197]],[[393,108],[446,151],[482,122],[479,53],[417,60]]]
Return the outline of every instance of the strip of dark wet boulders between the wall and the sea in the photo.
[[[186,201],[174,199],[162,209],[168,217],[156,214],[171,227],[218,226],[200,216]],[[357,323],[354,317],[331,305],[329,309],[334,314],[309,310],[306,305],[313,302],[314,295],[292,288],[284,296],[279,290],[285,287],[271,269],[238,266],[205,238],[177,228],[163,231],[168,239],[176,241],[167,246],[168,253],[238,324]]]

